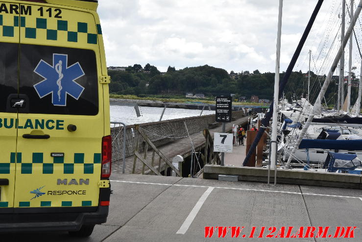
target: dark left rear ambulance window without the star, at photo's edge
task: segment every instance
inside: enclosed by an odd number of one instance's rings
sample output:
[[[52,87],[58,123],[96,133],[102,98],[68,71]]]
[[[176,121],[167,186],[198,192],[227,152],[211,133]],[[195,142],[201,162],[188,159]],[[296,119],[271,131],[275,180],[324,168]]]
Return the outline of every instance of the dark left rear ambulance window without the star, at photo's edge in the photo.
[[[6,112],[10,94],[18,93],[19,44],[0,42],[0,112]]]

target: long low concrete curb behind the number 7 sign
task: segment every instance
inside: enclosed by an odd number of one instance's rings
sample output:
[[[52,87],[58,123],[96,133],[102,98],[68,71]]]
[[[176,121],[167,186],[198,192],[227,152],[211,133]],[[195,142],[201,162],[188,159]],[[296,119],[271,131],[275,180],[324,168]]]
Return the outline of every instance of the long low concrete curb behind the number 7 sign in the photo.
[[[203,178],[218,179],[218,175],[237,175],[239,181],[267,182],[267,172],[266,168],[260,167],[228,167],[207,164],[204,167]],[[274,182],[273,178],[274,171],[271,170],[271,183]],[[277,183],[362,189],[362,176],[357,174],[278,169]]]

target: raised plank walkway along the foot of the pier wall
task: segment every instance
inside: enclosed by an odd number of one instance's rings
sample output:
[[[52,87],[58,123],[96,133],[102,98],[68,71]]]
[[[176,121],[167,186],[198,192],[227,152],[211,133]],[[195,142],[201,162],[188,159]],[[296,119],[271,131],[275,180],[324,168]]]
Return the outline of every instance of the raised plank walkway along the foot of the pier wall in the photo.
[[[243,118],[239,118],[236,119],[235,121],[232,121],[230,123],[226,123],[226,132],[231,131],[233,124],[237,124],[237,125],[244,125],[247,123],[248,121],[248,116],[243,117]],[[221,125],[210,129],[210,134],[212,135],[212,137],[214,137],[214,133],[221,133],[222,127]],[[204,147],[205,145],[205,137],[202,134],[202,131],[200,133],[197,134],[193,134],[191,135],[191,139],[193,141],[193,146],[195,148],[196,151],[198,151],[200,148]],[[142,145],[142,144],[140,144]],[[173,157],[177,156],[177,155],[181,155],[184,158],[189,157],[191,155],[191,151],[192,151],[192,146],[191,146],[191,142],[190,142],[190,138],[189,137],[184,137],[178,140],[175,140],[173,142],[169,142],[168,144],[165,145],[161,145],[159,147],[157,147],[168,159],[169,161],[172,160]],[[142,154],[143,156],[143,154]],[[148,150],[147,152],[147,158],[146,161],[148,161],[149,163],[151,163],[151,158],[152,158],[152,150]],[[125,173],[132,173],[132,168],[133,168],[133,159],[134,156],[129,156],[126,157],[126,162],[125,162]],[[155,165],[158,165],[158,161],[159,161],[159,156],[156,154],[155,158]],[[164,164],[161,165],[161,167]],[[135,173],[136,174],[141,174],[142,173],[142,167],[143,167],[143,163],[140,160],[137,160],[136,162],[136,169],[135,169]],[[113,164],[113,172],[121,172],[122,170],[122,161],[121,162],[114,162]],[[161,169],[162,170],[162,169]]]

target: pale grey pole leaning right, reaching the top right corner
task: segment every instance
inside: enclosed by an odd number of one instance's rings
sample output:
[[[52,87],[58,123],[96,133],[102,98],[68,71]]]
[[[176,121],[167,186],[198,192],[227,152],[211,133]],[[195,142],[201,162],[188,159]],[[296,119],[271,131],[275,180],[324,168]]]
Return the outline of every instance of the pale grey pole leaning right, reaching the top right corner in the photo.
[[[356,9],[356,12],[354,14],[353,20],[351,21],[351,24],[349,25],[349,27],[347,29],[346,35],[343,38],[343,44],[339,47],[338,53],[337,53],[337,55],[336,55],[336,57],[335,57],[335,59],[334,59],[334,61],[332,63],[331,69],[328,72],[328,76],[327,76],[326,80],[324,81],[322,88],[320,89],[318,98],[314,103],[312,113],[309,115],[305,125],[303,126],[303,129],[299,133],[298,140],[295,142],[294,147],[293,147],[292,151],[290,152],[290,156],[288,158],[288,162],[285,164],[285,168],[288,168],[290,166],[290,161],[292,159],[292,156],[294,155],[295,150],[298,149],[300,142],[302,141],[302,139],[303,139],[304,135],[306,134],[309,126],[311,125],[311,122],[312,122],[312,120],[314,118],[314,115],[321,113],[321,100],[322,100],[322,98],[324,97],[324,94],[327,91],[329,83],[331,82],[333,73],[335,72],[335,70],[337,68],[338,60],[340,59],[340,56],[342,55],[342,53],[344,51],[344,47],[347,44],[348,38],[349,38],[349,36],[351,35],[351,33],[353,31],[353,27],[355,26],[356,21],[358,19],[358,16],[360,15],[361,8],[362,8],[362,0],[360,0],[360,3],[357,6],[357,9]]]

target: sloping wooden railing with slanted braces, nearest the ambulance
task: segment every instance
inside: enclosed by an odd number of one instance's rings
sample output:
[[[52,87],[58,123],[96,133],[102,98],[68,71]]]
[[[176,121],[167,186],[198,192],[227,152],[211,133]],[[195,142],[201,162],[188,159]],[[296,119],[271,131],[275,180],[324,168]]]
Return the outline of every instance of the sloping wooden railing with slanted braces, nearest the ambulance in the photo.
[[[136,163],[137,160],[140,160],[143,164],[142,164],[142,174],[145,174],[145,167],[147,166],[147,168],[149,170],[151,170],[151,174],[156,174],[158,176],[162,176],[161,172],[164,171],[164,175],[167,176],[167,171],[169,168],[171,168],[175,173],[176,176],[181,176],[181,172],[172,164],[171,161],[169,161],[169,159],[162,154],[162,152],[157,149],[157,147],[153,144],[153,142],[147,137],[147,135],[143,132],[143,130],[141,129],[141,127],[139,125],[136,125],[136,132],[137,134],[137,141],[136,141],[136,148],[134,151],[134,160],[133,160],[133,169],[132,169],[132,173],[134,174],[136,171]],[[139,148],[140,148],[140,139],[141,136],[145,139],[145,149],[144,149],[144,154],[142,155],[139,152]],[[149,147],[152,149],[152,156],[151,156],[151,161],[147,161],[147,151]],[[155,159],[155,155],[157,154],[158,158],[158,164],[155,164],[156,160]]]

